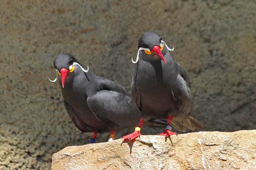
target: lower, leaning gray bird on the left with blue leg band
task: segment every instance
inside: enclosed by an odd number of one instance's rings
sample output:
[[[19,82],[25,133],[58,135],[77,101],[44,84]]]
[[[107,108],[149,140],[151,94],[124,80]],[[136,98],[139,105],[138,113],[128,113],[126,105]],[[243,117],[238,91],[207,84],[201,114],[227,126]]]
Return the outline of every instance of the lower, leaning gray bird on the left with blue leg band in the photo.
[[[54,60],[56,78],[63,103],[74,125],[82,132],[93,132],[90,143],[95,143],[97,133],[115,132],[136,126],[141,113],[134,105],[131,94],[114,81],[94,75],[69,54],[62,53]],[[160,120],[146,125],[163,126]]]

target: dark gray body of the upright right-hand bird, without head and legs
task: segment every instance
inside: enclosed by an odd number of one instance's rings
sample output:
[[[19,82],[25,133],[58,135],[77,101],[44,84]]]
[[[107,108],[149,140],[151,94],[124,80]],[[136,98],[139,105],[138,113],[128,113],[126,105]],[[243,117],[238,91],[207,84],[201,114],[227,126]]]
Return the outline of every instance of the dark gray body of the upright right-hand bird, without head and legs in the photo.
[[[140,58],[133,74],[132,95],[137,108],[146,120],[166,119],[182,122],[191,110],[191,94],[185,70],[163,47],[167,63],[155,55],[140,51]]]

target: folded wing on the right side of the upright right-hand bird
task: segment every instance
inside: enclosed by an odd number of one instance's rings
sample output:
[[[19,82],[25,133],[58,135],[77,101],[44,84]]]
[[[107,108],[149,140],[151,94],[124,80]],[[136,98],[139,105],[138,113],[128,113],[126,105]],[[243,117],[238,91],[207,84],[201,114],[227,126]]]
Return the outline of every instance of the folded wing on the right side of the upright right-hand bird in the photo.
[[[177,79],[172,85],[172,96],[180,114],[188,114],[191,109],[191,93],[188,77],[182,66],[177,63]]]

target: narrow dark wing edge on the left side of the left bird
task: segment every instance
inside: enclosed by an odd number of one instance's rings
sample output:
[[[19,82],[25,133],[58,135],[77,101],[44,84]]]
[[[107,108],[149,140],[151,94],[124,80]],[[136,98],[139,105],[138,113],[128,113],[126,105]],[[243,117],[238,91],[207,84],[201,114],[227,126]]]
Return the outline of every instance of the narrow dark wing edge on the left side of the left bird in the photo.
[[[71,108],[71,106],[68,103],[66,103],[66,101],[63,101],[63,103],[66,111],[68,112],[68,115],[70,116],[71,120],[74,122],[76,127],[82,132],[91,132],[91,130],[88,129],[87,126],[82,122],[82,120],[77,117],[76,113]]]

